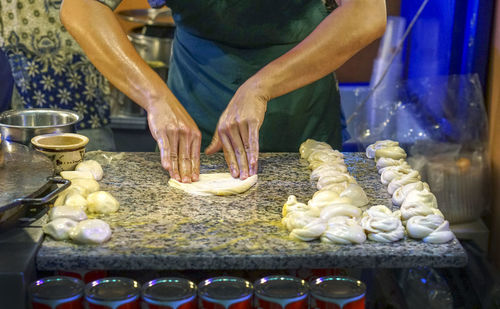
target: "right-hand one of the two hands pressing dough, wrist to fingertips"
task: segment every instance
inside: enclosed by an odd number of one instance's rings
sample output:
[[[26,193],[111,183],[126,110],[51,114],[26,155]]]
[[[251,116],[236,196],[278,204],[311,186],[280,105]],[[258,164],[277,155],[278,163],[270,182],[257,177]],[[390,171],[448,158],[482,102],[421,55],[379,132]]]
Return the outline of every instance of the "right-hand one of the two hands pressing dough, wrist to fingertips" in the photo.
[[[213,154],[221,148],[233,177],[246,179],[257,174],[259,129],[267,109],[265,96],[247,81],[234,94],[222,113],[212,138],[205,149]]]

